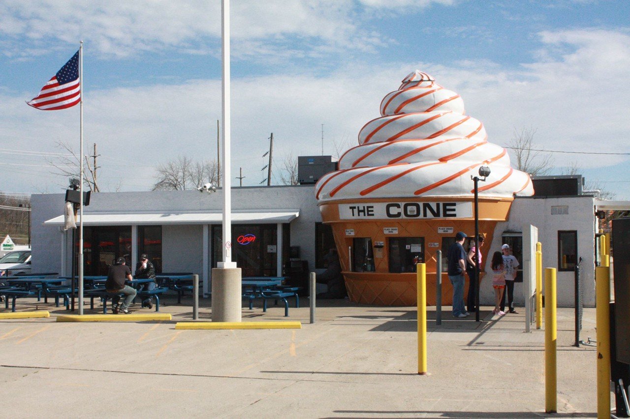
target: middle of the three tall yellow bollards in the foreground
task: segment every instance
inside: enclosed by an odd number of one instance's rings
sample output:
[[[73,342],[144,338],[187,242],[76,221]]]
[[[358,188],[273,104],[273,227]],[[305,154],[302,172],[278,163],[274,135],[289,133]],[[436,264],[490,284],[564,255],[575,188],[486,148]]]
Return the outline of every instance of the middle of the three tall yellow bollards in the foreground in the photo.
[[[558,411],[556,268],[545,269],[545,412]]]

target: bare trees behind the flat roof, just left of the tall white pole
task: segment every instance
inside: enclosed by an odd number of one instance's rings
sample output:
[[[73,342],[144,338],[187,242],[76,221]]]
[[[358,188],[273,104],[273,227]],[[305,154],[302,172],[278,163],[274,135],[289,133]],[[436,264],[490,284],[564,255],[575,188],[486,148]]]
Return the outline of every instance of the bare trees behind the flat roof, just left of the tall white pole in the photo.
[[[156,183],[152,191],[185,191],[205,183],[218,184],[215,160],[195,161],[180,156],[156,167]]]

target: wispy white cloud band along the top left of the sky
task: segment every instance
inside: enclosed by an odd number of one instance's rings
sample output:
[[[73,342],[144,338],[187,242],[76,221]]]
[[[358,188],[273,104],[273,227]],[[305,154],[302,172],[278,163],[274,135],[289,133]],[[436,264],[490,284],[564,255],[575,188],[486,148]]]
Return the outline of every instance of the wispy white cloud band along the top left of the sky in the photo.
[[[290,45],[296,42],[304,43],[307,50],[324,46],[369,52],[384,40],[356,23],[361,21],[356,18],[360,13],[352,0],[233,1],[234,53],[236,57],[251,55],[256,48],[245,47],[256,47],[261,40],[266,48],[280,52],[292,49]],[[14,58],[28,56],[25,47],[50,48],[51,43],[81,39],[105,57],[172,48],[216,53],[221,47],[221,2],[4,0],[0,3],[0,33],[28,39],[28,45],[14,43],[3,48],[5,55]],[[249,43],[239,44],[241,40]]]

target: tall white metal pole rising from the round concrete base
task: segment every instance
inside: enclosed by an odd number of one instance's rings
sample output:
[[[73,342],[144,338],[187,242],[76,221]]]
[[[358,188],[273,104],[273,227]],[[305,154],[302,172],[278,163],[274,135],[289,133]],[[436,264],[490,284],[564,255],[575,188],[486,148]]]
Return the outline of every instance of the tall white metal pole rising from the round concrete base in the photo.
[[[223,40],[222,106],[223,106],[223,262],[220,268],[235,268],[232,262],[232,175],[230,155],[230,2],[221,1],[221,35]]]

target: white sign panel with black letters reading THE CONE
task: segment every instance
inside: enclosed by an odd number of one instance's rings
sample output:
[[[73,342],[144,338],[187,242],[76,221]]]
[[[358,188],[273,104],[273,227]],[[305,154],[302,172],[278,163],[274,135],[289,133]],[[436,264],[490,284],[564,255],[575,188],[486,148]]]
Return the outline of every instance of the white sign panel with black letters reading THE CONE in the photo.
[[[471,218],[471,202],[393,202],[338,204],[340,220]]]

